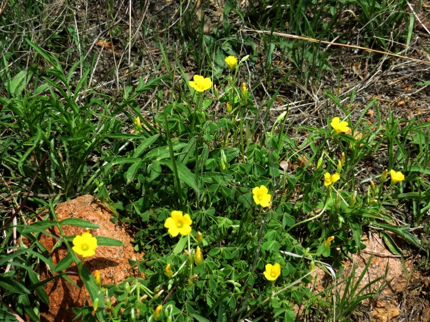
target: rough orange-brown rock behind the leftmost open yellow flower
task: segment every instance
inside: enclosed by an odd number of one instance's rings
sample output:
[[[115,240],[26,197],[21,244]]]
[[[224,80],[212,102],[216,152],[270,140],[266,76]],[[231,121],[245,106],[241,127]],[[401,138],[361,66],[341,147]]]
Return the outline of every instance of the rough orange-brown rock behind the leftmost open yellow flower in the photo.
[[[127,234],[123,227],[120,227],[111,222],[112,213],[110,209],[94,200],[93,196],[85,195],[77,197],[64,203],[60,203],[55,208],[58,220],[66,218],[81,218],[91,221],[99,226],[98,229],[92,229],[93,236],[105,236],[115,238],[123,242],[124,246],[98,246],[96,255],[86,258],[84,266],[90,271],[98,269],[105,283],[122,282],[130,273],[128,268],[128,259],[136,259],[136,254],[131,244],[131,237]],[[80,235],[85,229],[70,225],[62,226],[66,236]],[[50,233],[59,236],[58,230],[55,229]],[[52,252],[53,245],[57,242],[56,239],[42,235],[40,242]],[[56,265],[63,257],[67,255],[66,246],[56,248],[52,254],[52,262]],[[68,271],[77,272],[75,264]],[[52,276],[51,272],[47,272],[46,267],[41,271],[40,279],[43,280]],[[82,289],[78,289],[70,282],[63,278],[55,279],[48,283],[46,291],[49,295],[50,306],[41,307],[41,321],[67,322],[74,318],[72,307],[82,307],[85,301],[89,301],[87,291],[82,287],[82,283],[76,274],[69,274],[68,277],[74,281]]]

